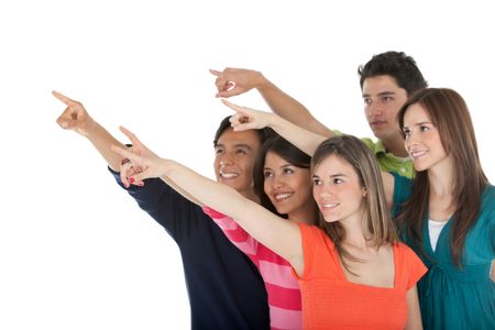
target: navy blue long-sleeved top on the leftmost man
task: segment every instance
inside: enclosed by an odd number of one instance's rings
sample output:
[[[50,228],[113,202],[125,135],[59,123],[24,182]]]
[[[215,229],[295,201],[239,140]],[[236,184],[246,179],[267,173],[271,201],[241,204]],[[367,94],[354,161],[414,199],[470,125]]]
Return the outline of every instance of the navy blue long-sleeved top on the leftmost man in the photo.
[[[110,172],[123,187],[119,174]],[[179,246],[193,329],[270,329],[260,272],[200,207],[161,179],[128,191]]]

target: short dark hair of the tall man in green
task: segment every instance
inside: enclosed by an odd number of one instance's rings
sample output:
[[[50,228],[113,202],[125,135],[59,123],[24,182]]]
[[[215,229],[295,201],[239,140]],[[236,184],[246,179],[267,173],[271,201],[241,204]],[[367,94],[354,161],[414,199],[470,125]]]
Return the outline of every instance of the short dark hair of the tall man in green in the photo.
[[[416,61],[411,56],[407,56],[404,52],[391,51],[373,55],[372,59],[364,66],[359,66],[358,74],[360,75],[361,89],[363,89],[363,84],[366,78],[376,76],[394,77],[397,85],[404,88],[408,96],[416,90],[428,87],[427,80],[425,80],[416,65]]]

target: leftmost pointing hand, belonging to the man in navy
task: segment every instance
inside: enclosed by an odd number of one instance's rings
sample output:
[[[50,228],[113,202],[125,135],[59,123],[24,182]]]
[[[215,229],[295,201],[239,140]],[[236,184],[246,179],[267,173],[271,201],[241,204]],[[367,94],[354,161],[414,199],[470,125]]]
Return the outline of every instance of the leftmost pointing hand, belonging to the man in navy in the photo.
[[[61,128],[64,130],[73,130],[81,135],[88,136],[97,127],[97,122],[88,114],[82,103],[72,100],[55,90],[52,91],[52,95],[67,106],[61,117],[57,118],[57,123]]]

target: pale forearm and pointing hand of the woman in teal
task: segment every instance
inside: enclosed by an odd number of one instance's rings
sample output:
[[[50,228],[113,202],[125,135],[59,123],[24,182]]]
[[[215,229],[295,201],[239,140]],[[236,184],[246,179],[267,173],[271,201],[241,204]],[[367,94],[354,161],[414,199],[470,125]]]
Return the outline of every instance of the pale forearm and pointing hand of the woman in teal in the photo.
[[[260,130],[270,127],[310,156],[318,145],[327,140],[327,136],[305,130],[277,114],[237,106],[227,100],[222,100],[222,102],[237,112],[230,119],[234,131]]]

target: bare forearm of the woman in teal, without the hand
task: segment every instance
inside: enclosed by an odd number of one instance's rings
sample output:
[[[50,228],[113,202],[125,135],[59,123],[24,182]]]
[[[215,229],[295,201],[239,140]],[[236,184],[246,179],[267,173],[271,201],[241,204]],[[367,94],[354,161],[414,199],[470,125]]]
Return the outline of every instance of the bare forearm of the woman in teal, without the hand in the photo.
[[[321,142],[327,140],[327,136],[308,131],[278,116],[272,116],[268,127],[310,156]]]

